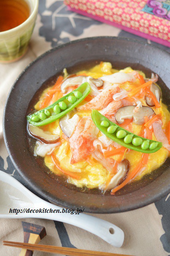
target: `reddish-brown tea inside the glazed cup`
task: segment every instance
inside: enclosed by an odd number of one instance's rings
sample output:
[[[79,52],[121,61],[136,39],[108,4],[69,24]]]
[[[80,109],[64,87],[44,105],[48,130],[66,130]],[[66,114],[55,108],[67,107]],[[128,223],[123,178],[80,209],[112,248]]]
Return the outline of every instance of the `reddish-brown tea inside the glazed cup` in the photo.
[[[30,16],[29,4],[24,0],[0,0],[0,32],[13,29]]]

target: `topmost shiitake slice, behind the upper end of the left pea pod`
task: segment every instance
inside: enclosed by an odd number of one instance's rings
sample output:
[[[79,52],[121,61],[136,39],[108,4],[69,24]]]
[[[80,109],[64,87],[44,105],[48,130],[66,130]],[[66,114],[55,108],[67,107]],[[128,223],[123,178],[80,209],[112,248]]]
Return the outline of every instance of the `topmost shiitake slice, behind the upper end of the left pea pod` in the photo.
[[[90,78],[90,81],[96,86],[96,87],[101,87],[103,86],[103,81],[101,79],[94,79]],[[74,77],[69,77],[66,80],[63,81],[61,84],[61,91],[62,93],[67,92],[67,88],[70,86],[75,86],[75,85],[80,85],[84,82],[87,82],[87,76],[74,76]]]

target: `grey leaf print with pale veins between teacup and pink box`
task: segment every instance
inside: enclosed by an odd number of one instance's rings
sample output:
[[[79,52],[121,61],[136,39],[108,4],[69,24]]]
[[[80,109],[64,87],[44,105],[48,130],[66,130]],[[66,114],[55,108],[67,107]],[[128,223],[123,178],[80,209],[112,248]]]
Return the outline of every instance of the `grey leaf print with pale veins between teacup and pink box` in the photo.
[[[80,37],[84,29],[91,25],[101,25],[96,20],[68,11],[63,1],[55,1],[46,7],[46,1],[41,0],[39,14],[43,24],[39,34],[45,37],[46,41],[51,42],[52,47],[69,42],[69,34],[78,39],[76,37]]]

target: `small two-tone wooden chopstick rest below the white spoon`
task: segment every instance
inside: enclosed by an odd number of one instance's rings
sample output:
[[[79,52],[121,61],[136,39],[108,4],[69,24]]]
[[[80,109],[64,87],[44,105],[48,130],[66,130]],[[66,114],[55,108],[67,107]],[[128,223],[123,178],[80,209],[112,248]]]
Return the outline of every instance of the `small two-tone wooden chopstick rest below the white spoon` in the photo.
[[[46,236],[46,230],[45,230],[45,227],[43,226],[22,221],[22,227],[24,231],[25,243],[38,244],[39,241],[41,241],[41,239]],[[33,251],[28,249],[22,249],[19,255],[32,256]]]

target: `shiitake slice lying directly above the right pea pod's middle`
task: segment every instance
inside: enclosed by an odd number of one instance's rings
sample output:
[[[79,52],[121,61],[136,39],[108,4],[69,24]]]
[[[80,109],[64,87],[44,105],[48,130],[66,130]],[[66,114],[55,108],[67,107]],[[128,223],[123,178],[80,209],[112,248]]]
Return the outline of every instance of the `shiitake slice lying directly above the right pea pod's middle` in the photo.
[[[133,118],[135,124],[141,125],[144,123],[145,116],[150,117],[151,115],[155,115],[154,110],[150,107],[141,106],[139,110],[134,113],[133,110],[135,108],[136,106],[124,106],[119,108],[114,116],[117,123],[122,124],[125,119]]]

